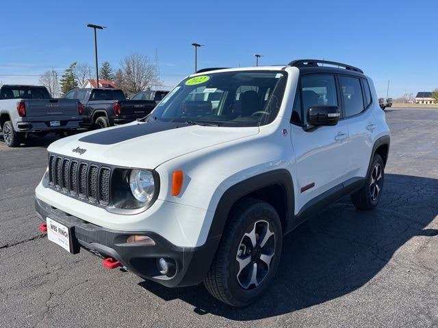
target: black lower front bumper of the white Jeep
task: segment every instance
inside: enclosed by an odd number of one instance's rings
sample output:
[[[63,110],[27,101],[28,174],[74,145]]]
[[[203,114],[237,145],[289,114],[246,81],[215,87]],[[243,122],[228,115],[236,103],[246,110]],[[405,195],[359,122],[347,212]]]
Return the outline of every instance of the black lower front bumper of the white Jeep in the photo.
[[[155,232],[129,232],[96,226],[53,208],[38,198],[35,198],[35,208],[38,217],[44,222],[46,217],[50,217],[68,228],[74,227],[74,238],[81,247],[103,257],[115,258],[136,275],[168,287],[200,284],[209,271],[220,239],[220,236],[207,238],[205,244],[200,247],[179,247]],[[152,238],[155,245],[126,243],[128,236],[139,234]],[[175,275],[161,275],[157,268],[158,258],[174,260]]]

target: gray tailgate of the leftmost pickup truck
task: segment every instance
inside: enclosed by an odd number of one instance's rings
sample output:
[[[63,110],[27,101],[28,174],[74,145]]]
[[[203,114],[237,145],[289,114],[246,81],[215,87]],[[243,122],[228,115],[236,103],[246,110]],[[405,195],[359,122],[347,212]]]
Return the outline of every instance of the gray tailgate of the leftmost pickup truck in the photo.
[[[53,118],[66,120],[79,115],[78,101],[75,99],[23,99],[27,118]]]

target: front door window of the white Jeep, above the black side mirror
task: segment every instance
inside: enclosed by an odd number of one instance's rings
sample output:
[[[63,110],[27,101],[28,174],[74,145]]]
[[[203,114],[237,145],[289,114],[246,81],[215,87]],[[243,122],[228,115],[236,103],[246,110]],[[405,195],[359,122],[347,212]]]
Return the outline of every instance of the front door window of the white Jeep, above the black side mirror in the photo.
[[[307,110],[312,106],[337,106],[335,76],[332,74],[303,75],[301,96],[304,110],[301,120],[304,121],[307,118]]]

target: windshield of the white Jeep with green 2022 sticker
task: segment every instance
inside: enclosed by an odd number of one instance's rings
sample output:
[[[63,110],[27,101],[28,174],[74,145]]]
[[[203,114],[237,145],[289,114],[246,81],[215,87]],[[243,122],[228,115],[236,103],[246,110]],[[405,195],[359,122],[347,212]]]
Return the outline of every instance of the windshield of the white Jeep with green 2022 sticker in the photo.
[[[284,71],[221,72],[183,80],[159,103],[149,120],[218,126],[259,126],[276,118]]]

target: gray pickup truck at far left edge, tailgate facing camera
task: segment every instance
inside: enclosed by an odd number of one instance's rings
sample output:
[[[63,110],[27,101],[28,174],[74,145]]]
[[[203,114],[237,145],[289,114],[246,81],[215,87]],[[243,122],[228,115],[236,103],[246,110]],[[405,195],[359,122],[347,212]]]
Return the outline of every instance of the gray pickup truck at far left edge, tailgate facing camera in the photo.
[[[46,87],[3,85],[0,88],[0,129],[9,147],[20,146],[27,133],[68,133],[81,122],[78,100],[51,98]]]

